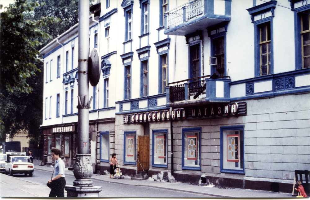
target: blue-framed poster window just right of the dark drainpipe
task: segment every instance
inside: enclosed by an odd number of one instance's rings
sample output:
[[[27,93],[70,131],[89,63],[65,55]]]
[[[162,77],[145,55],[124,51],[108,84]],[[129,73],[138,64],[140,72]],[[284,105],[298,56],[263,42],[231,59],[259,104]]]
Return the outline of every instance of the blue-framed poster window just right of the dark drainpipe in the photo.
[[[201,168],[201,128],[182,128],[182,169]]]

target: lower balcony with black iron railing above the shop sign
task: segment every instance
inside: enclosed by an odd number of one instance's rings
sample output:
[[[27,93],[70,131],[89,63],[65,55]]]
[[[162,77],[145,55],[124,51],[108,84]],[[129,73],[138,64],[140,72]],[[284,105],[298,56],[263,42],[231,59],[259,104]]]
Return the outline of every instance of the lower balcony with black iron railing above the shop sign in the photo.
[[[166,106],[190,107],[214,102],[229,102],[230,81],[229,76],[218,78],[201,76],[169,83],[166,86]]]

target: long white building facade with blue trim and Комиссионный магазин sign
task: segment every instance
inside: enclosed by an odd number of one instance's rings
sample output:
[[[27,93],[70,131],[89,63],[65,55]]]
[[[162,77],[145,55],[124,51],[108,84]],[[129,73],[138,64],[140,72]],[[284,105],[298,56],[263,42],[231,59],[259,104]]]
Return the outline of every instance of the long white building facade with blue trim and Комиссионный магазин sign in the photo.
[[[294,171],[310,167],[309,3],[101,1],[100,17],[90,18],[102,62],[90,87],[94,170],[108,171],[116,153],[125,175],[291,191]],[[51,146],[54,127],[74,124],[76,138],[77,98],[73,111],[68,105],[77,66],[66,71],[64,59],[71,66],[76,29],[43,53],[42,128]]]

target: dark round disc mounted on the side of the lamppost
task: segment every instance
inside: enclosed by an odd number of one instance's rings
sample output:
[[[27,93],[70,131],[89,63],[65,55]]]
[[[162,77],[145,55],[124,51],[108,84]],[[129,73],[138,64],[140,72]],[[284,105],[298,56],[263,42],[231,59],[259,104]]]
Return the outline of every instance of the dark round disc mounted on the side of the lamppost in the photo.
[[[90,57],[88,58],[88,75],[91,86],[96,86],[100,79],[101,60],[96,48],[91,50]]]

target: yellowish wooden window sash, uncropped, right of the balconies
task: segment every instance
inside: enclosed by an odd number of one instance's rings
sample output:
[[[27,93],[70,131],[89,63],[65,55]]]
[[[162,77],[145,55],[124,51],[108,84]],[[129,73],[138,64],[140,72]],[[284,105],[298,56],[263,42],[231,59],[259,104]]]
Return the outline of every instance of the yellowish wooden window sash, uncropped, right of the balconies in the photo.
[[[260,31],[260,76],[271,74],[270,23],[259,26]]]

